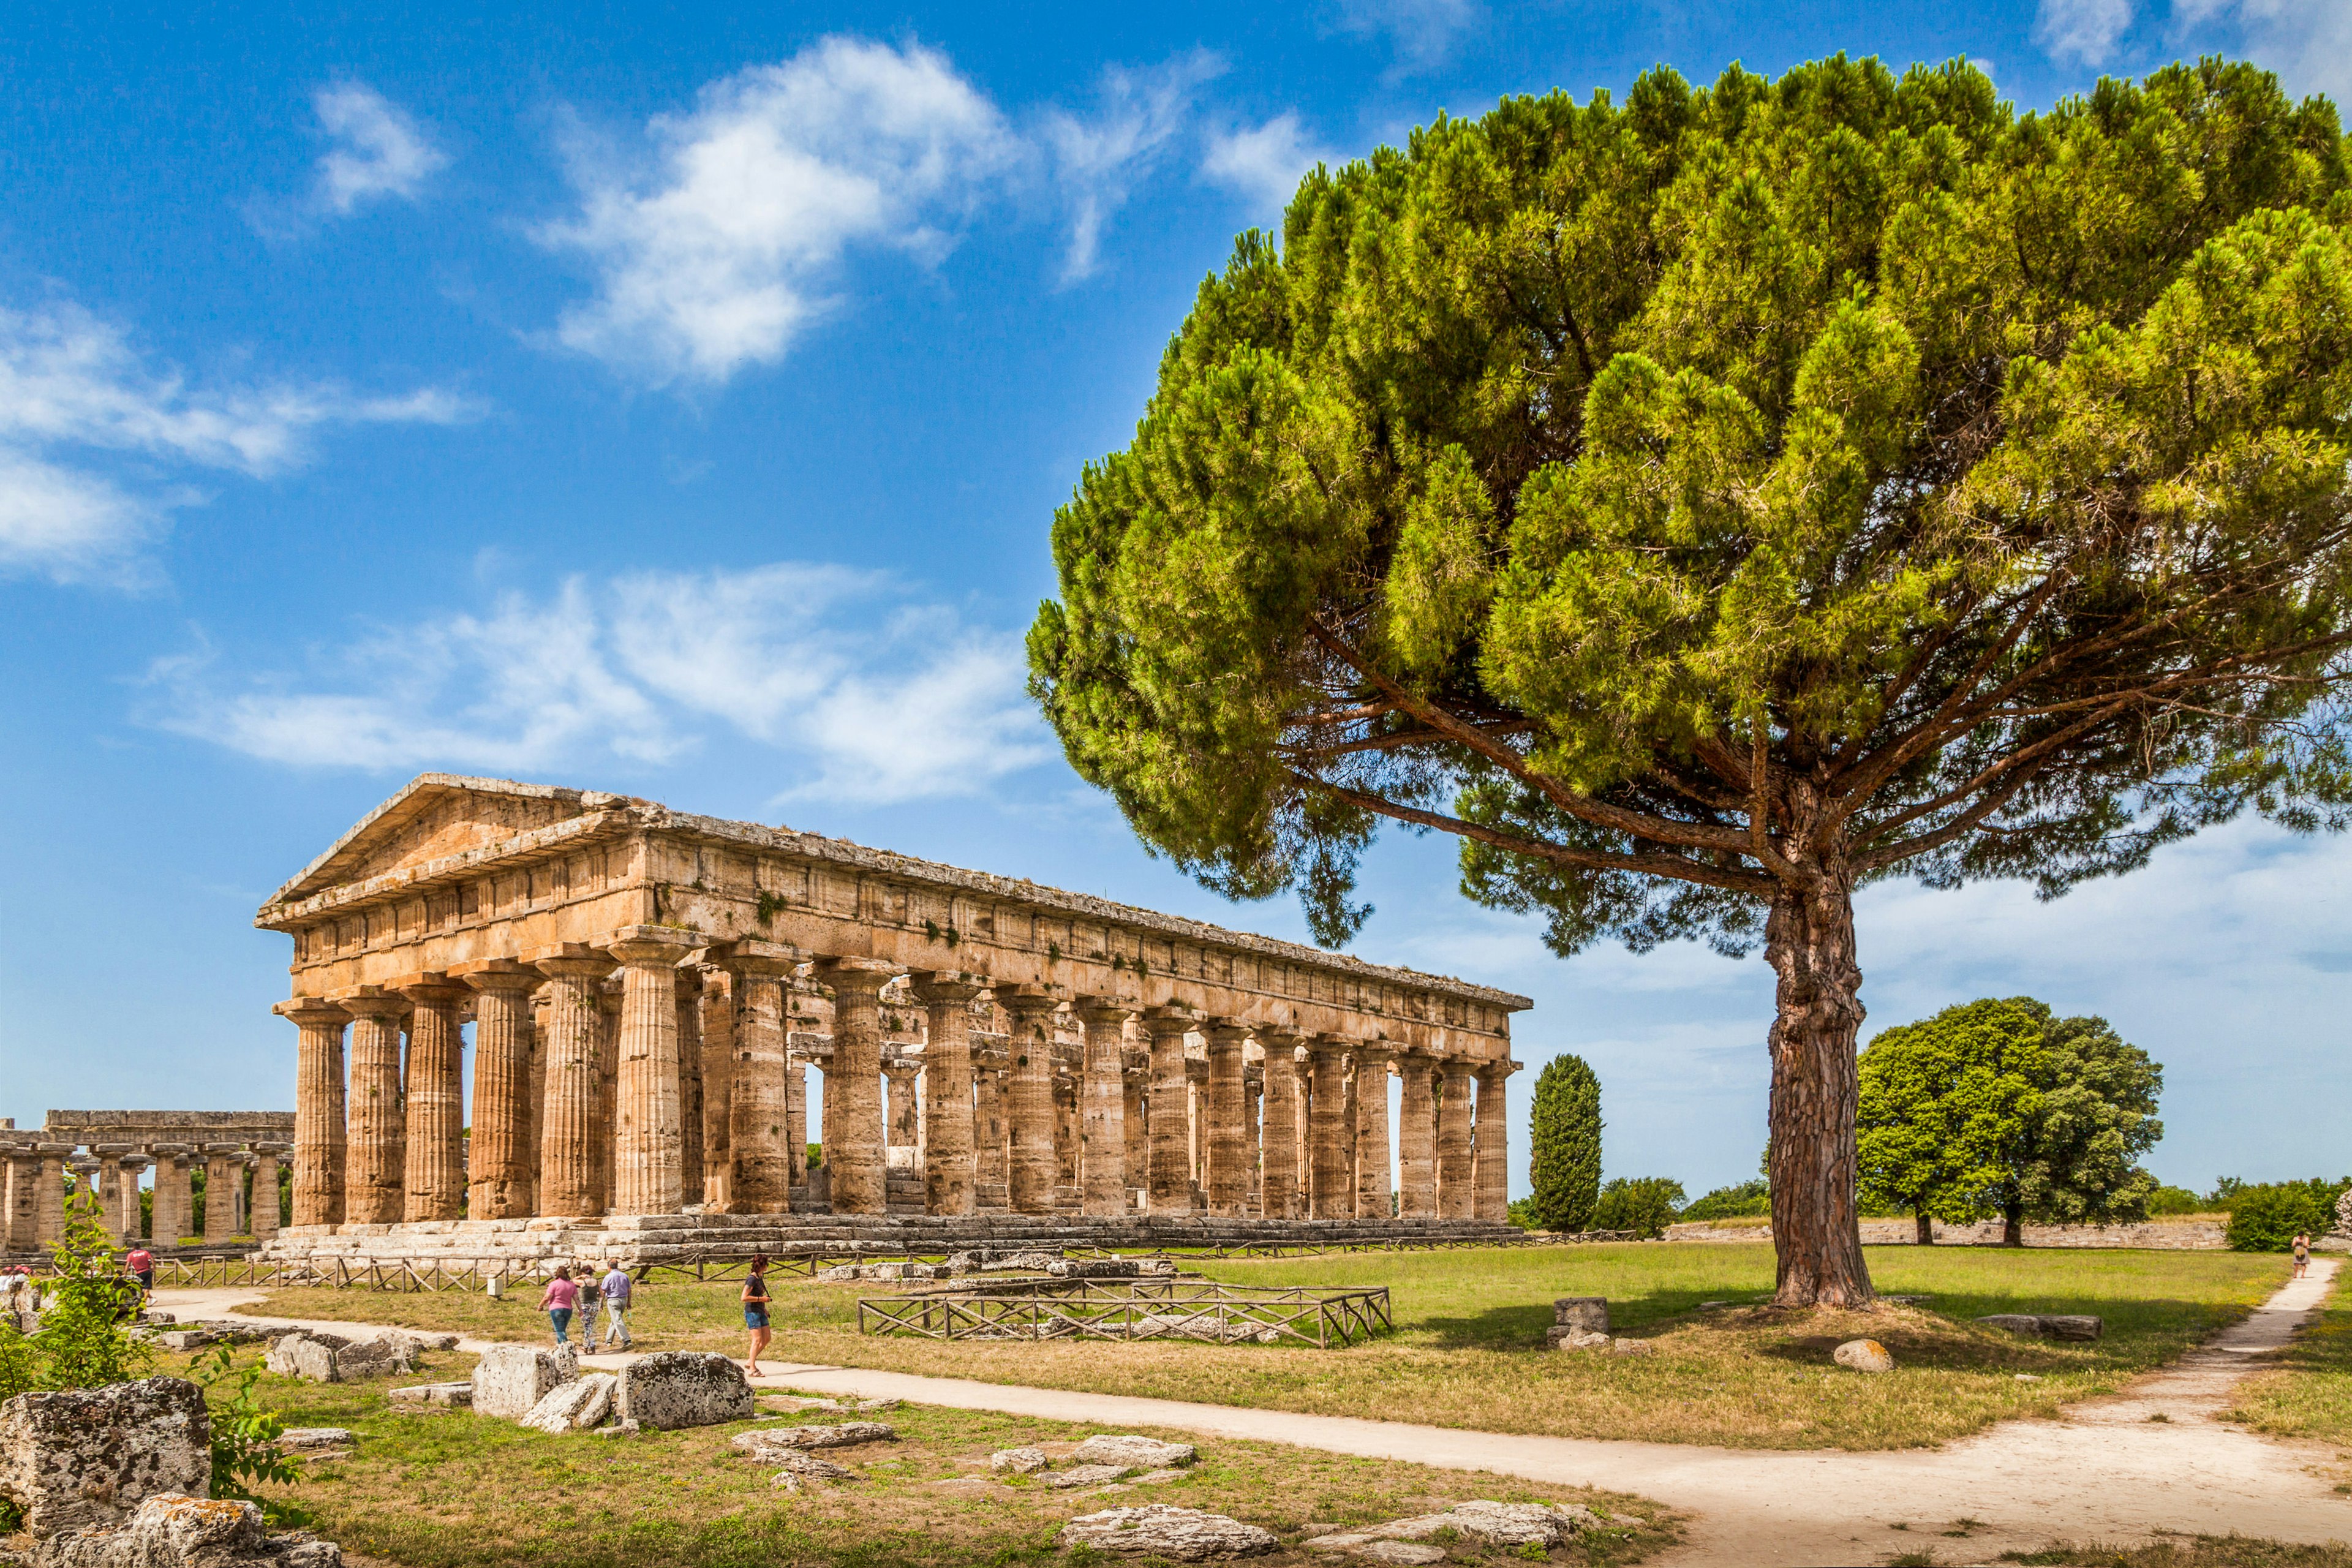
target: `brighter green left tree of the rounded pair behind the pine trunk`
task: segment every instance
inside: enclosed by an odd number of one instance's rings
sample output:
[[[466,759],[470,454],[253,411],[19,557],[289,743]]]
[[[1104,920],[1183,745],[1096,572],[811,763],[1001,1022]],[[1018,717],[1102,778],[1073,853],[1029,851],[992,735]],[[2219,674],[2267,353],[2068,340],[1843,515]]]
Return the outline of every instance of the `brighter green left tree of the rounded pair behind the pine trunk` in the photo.
[[[2016,997],[1879,1030],[1858,1067],[1863,1206],[1912,1215],[1922,1246],[1936,1220],[1978,1218],[2042,1103],[2046,1027],[2049,1009]]]

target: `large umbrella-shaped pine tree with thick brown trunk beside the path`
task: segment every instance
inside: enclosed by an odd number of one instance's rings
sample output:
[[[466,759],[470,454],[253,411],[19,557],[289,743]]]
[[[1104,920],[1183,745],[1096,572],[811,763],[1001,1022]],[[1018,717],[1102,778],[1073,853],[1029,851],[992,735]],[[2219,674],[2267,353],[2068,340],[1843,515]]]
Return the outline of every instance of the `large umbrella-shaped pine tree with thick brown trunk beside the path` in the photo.
[[[1442,118],[1202,282],[1056,512],[1033,691],[1324,943],[1383,820],[1562,954],[1762,943],[1778,1300],[1867,1302],[1856,889],[2340,825],[2347,219],[2333,106],[2218,59]]]

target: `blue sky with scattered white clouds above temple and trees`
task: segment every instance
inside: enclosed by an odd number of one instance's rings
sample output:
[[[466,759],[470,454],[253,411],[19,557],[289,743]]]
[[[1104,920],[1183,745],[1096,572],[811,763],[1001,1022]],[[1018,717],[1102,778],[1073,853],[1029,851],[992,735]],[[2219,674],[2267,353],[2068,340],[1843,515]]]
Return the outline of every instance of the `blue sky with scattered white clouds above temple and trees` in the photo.
[[[499,9],[0,19],[0,1117],[292,1105],[252,910],[423,769],[1298,936],[1134,844],[1018,637],[1054,505],[1317,158],[1837,49],[2020,106],[2199,49],[2352,92],[2340,0]],[[2056,905],[1875,889],[1865,1001],[2105,1013],[2169,1067],[2166,1180],[2340,1171],[2347,872],[2234,825]],[[1762,959],[1557,961],[1444,842],[1369,893],[1357,952],[1597,1065],[1611,1173],[1755,1171]]]

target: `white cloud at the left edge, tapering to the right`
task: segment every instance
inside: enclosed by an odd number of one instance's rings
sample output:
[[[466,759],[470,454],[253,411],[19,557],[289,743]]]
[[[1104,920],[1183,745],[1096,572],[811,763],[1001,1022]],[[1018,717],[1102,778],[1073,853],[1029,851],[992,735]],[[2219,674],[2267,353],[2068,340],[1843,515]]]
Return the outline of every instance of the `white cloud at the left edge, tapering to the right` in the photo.
[[[0,306],[0,576],[136,585],[153,576],[143,545],[174,508],[200,501],[158,470],[268,477],[301,463],[320,425],[470,414],[433,388],[397,397],[327,383],[193,388],[151,369],[118,327],[80,306]],[[96,451],[132,458],[132,473],[92,473]]]

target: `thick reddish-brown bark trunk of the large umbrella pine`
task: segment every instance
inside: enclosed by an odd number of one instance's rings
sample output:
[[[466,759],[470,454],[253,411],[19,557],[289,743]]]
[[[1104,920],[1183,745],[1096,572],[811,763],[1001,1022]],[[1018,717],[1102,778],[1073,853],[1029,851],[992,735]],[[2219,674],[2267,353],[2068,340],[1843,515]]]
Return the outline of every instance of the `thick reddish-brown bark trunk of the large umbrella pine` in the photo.
[[[1853,1178],[1853,1039],[1863,971],[1853,879],[1842,863],[1773,898],[1764,959],[1780,978],[1771,1025],[1771,1237],[1780,1307],[1867,1307]]]

